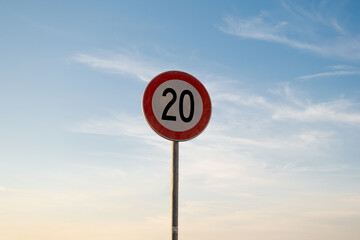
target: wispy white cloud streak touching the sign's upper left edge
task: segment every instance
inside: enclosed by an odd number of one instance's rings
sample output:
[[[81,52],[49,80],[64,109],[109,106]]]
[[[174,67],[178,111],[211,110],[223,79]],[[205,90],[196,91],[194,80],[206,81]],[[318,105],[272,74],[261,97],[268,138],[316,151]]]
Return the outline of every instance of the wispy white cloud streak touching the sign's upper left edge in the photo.
[[[77,54],[71,60],[110,73],[135,77],[144,82],[149,82],[154,76],[169,69],[166,64],[160,64],[155,59],[134,52],[108,53],[100,56]]]

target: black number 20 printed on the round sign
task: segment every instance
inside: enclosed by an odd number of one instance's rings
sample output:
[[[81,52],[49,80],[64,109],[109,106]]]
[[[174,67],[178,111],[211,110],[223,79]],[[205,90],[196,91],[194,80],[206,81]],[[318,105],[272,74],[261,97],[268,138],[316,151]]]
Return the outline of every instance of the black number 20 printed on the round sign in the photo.
[[[165,106],[163,114],[161,116],[161,119],[168,120],[168,121],[176,121],[176,116],[168,115],[168,111],[171,108],[171,106],[174,105],[174,103],[176,102],[177,95],[176,95],[175,90],[172,88],[166,88],[162,95],[165,97],[168,93],[172,94],[172,99]],[[189,116],[187,116],[187,117],[185,117],[185,115],[184,115],[184,97],[185,97],[185,95],[188,95],[190,98],[190,113],[189,113]],[[180,94],[179,113],[180,113],[181,120],[183,120],[186,123],[190,122],[194,117],[194,95],[189,90],[184,90]]]

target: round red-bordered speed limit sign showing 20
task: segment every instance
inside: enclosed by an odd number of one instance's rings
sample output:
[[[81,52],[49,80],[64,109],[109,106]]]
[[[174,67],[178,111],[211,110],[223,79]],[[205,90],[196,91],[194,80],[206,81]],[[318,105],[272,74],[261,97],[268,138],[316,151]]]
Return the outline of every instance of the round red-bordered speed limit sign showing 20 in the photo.
[[[208,92],[199,80],[180,71],[156,76],[145,89],[143,112],[151,128],[173,141],[199,135],[211,116]]]

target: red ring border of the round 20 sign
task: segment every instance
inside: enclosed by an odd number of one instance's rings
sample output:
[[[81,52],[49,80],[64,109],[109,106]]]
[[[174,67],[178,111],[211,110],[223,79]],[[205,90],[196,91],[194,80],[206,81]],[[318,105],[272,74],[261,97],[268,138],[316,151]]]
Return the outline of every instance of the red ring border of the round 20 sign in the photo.
[[[199,122],[189,130],[179,132],[164,127],[155,117],[152,109],[152,97],[155,90],[164,82],[170,80],[182,80],[191,84],[199,92],[203,101],[203,113]],[[160,136],[172,141],[187,141],[198,136],[210,121],[211,100],[206,88],[192,75],[181,71],[168,71],[157,75],[147,85],[143,95],[143,113],[150,127]]]

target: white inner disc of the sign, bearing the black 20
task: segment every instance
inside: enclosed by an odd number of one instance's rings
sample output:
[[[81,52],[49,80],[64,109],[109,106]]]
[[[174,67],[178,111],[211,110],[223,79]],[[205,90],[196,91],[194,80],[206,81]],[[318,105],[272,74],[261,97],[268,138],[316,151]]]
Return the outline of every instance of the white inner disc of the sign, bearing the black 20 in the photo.
[[[160,124],[172,131],[183,132],[200,121],[203,103],[199,92],[191,84],[170,80],[155,90],[152,108]]]

